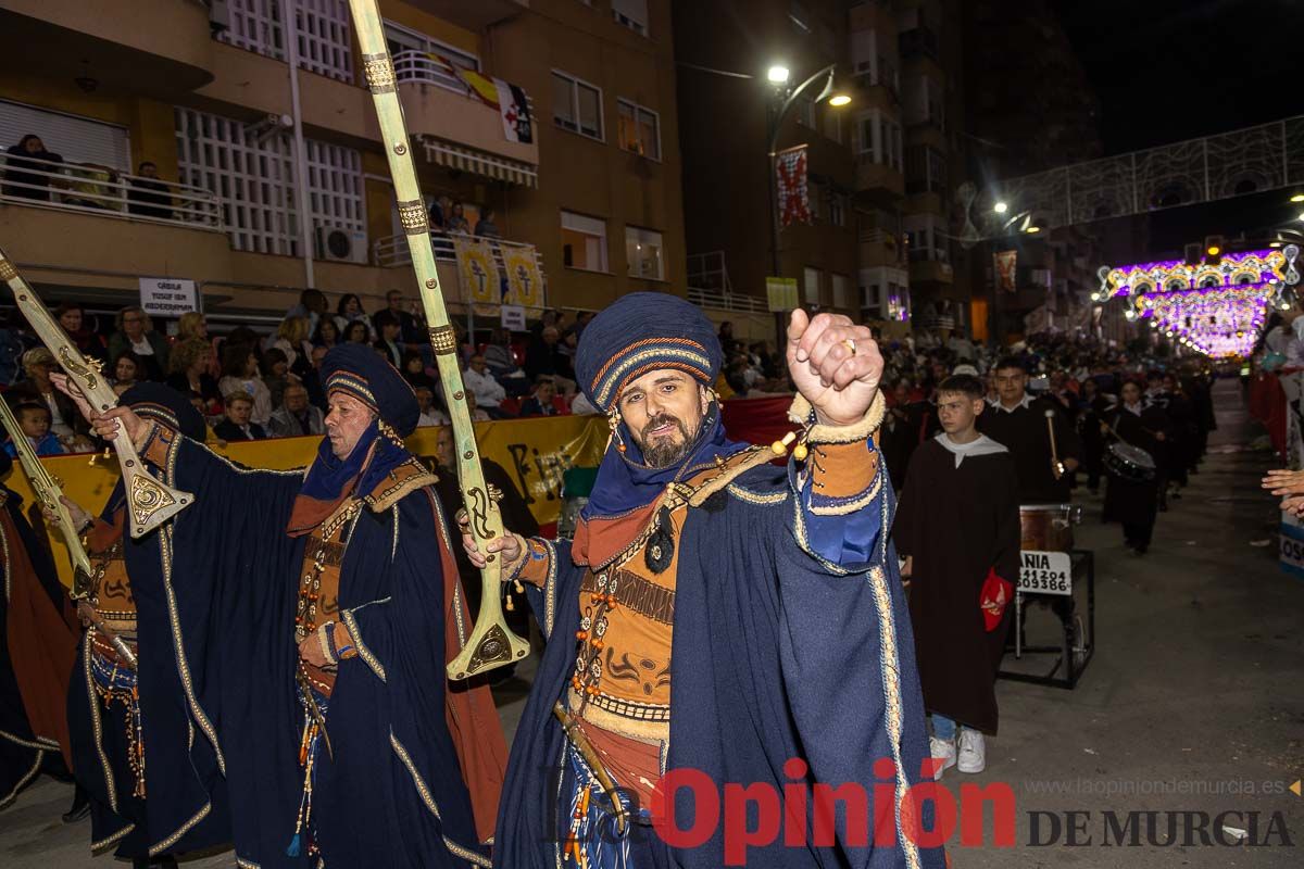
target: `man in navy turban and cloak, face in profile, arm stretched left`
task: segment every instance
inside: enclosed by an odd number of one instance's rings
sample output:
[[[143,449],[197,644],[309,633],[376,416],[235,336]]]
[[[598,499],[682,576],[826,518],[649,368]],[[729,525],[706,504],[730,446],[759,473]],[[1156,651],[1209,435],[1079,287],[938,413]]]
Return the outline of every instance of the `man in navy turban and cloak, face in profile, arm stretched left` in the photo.
[[[306,473],[129,408],[94,420],[196,494],[153,555],[194,743],[216,752],[240,865],[489,865],[506,747],[488,688],[445,676],[467,614],[436,479],[403,446],[416,397],[357,344],[321,377]]]

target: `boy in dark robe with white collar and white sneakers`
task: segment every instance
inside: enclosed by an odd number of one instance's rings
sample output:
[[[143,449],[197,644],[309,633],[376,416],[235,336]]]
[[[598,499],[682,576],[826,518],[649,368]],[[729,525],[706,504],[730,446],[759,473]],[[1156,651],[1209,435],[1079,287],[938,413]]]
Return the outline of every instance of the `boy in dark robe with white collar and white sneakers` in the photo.
[[[986,767],[983,734],[996,734],[996,670],[1020,569],[1015,461],[977,427],[986,391],[970,374],[938,386],[941,431],[910,456],[892,529],[911,586],[936,778],[957,761],[961,773]]]

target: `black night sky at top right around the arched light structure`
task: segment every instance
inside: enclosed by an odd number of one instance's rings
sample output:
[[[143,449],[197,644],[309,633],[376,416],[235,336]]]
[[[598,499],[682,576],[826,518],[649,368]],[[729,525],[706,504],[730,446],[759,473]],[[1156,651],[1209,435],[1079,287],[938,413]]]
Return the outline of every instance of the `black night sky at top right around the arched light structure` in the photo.
[[[1052,3],[1101,100],[1107,155],[1304,115],[1304,0]],[[1206,235],[1299,227],[1290,193],[1154,212],[1146,246],[1180,255]]]

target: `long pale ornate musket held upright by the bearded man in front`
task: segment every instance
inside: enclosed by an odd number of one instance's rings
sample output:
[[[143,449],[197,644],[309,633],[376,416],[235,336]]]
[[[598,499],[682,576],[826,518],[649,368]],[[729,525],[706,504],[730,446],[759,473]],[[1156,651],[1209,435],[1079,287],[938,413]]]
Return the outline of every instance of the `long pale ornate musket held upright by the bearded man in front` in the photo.
[[[407,125],[403,122],[403,106],[399,103],[394,81],[394,61],[385,44],[385,30],[376,0],[349,0],[348,5],[353,13],[357,43],[363,51],[366,86],[372,91],[376,113],[381,121],[381,137],[385,139],[385,154],[390,160],[394,193],[398,197],[399,220],[407,235],[412,268],[421,289],[430,347],[434,348],[443,397],[452,417],[452,442],[458,451],[458,485],[466,503],[471,533],[476,543],[482,545],[502,535],[502,515],[490,498],[484,470],[480,468],[476,433],[471,425],[466,387],[462,384],[462,370],[458,366],[458,339],[449,323],[449,311],[439,291],[425,201],[417,184]],[[454,528],[451,534],[455,538],[458,529]],[[502,563],[492,554],[485,556],[485,567],[480,571],[482,586],[480,612],[476,614],[471,638],[449,664],[451,679],[467,679],[477,672],[524,658],[529,653],[529,644],[512,633],[502,616]]]

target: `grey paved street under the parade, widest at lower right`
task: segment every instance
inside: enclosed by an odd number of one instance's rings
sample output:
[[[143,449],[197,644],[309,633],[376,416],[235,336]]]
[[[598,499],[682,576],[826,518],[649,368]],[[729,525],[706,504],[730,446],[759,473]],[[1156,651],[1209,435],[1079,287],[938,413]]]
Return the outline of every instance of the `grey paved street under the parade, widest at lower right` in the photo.
[[[988,829],[986,847],[952,847],[957,869],[1304,865],[1297,847],[1281,847],[1283,838],[1304,842],[1304,799],[1286,791],[1304,775],[1304,582],[1277,568],[1277,513],[1257,487],[1270,457],[1244,448],[1253,430],[1239,386],[1221,382],[1217,397],[1211,455],[1161,515],[1150,555],[1125,555],[1121,533],[1099,524],[1099,499],[1085,500],[1078,545],[1097,555],[1095,658],[1076,691],[1000,684],[1001,732],[988,741],[987,773],[948,771],[944,783],[1008,782],[1018,846],[992,847]],[[1050,619],[1030,612],[1031,641],[1050,638]],[[512,724],[519,702],[502,709]],[[60,823],[69,799],[69,787],[43,780],[0,814],[0,865],[110,865],[86,855],[85,823]],[[1090,813],[1077,821],[1078,840],[1090,844],[1065,847],[1064,812],[1074,810]],[[1151,816],[1161,843],[1168,842],[1166,812],[1211,818],[1231,810],[1239,814],[1224,817],[1227,826],[1269,847],[1103,847],[1106,810],[1120,825],[1127,812],[1161,813]],[[1030,812],[1058,813],[1058,840],[1029,847]],[[1038,817],[1045,840],[1054,825]],[[1131,823],[1140,823],[1132,829],[1145,843],[1145,817]],[[1179,838],[1184,823],[1176,818]],[[231,864],[216,855],[186,865]]]

